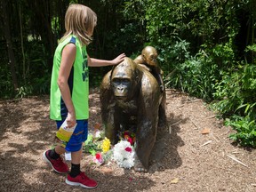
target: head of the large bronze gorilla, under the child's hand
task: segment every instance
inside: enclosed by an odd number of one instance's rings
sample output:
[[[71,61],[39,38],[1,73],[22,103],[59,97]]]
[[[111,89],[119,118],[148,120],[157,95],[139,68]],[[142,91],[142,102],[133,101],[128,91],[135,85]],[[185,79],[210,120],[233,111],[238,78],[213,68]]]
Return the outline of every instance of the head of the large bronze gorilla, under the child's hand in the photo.
[[[111,86],[117,100],[130,100],[138,83],[132,60],[124,60],[116,66],[111,76]]]

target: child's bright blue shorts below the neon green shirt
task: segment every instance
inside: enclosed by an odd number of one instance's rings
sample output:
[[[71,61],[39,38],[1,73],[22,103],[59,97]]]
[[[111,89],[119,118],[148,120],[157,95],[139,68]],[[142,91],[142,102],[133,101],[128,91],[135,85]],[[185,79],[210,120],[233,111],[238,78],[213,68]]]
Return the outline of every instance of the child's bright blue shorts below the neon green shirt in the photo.
[[[63,121],[56,121],[58,130],[60,129]],[[87,120],[76,120],[76,129],[73,132],[68,144],[66,146],[66,150],[70,152],[79,151],[82,148],[82,145],[85,140],[87,140],[88,135],[88,121]]]

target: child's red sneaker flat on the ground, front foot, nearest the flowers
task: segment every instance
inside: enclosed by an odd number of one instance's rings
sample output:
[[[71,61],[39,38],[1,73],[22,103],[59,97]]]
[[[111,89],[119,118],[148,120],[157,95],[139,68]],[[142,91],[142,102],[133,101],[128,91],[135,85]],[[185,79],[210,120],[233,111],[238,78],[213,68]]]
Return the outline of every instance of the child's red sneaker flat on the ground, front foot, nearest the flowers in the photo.
[[[82,188],[96,188],[98,186],[97,182],[88,178],[84,172],[80,172],[75,178],[70,177],[68,174],[66,183],[72,186],[81,186]]]

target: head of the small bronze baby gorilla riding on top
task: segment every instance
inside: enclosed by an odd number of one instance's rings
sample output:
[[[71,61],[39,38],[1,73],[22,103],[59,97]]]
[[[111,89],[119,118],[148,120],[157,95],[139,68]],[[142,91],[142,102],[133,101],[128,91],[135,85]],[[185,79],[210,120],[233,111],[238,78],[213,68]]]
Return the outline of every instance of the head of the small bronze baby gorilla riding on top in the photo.
[[[152,46],[146,46],[142,52],[141,55],[143,57],[143,60],[149,65],[149,66],[157,66],[157,51]]]

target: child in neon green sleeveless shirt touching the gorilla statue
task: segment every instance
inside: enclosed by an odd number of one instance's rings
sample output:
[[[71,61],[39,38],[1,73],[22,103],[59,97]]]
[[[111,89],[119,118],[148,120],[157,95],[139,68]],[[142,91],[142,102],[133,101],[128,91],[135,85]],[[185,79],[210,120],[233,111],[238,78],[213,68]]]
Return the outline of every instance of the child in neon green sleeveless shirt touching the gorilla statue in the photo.
[[[65,15],[66,33],[60,39],[53,59],[50,117],[56,120],[58,129],[65,119],[68,127],[76,129],[66,148],[57,146],[44,151],[44,160],[59,173],[68,172],[61,154],[71,152],[71,171],[66,183],[83,188],[96,188],[97,182],[80,171],[82,144],[87,139],[87,119],[89,117],[89,76],[88,66],[100,67],[117,65],[124,60],[124,53],[115,60],[96,60],[89,57],[86,45],[92,41],[97,16],[89,7],[70,4]]]

